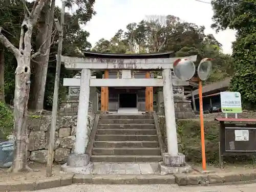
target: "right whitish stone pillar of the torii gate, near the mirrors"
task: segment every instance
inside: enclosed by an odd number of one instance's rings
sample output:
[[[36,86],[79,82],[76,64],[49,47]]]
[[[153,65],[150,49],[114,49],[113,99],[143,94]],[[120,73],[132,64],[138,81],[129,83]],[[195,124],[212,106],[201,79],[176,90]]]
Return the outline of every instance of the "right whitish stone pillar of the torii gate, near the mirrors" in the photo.
[[[178,155],[178,141],[175,120],[174,108],[174,94],[172,71],[170,69],[163,70],[163,98],[164,98],[164,112],[166,121],[166,135],[168,154],[171,156]]]

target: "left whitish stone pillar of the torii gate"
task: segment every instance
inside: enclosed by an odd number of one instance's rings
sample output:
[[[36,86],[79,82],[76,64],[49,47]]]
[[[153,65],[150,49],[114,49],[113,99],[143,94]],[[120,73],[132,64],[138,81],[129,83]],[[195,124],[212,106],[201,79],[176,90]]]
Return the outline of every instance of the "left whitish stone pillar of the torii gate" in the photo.
[[[81,85],[76,126],[75,155],[86,153],[87,122],[90,95],[91,70],[83,69],[81,73]]]

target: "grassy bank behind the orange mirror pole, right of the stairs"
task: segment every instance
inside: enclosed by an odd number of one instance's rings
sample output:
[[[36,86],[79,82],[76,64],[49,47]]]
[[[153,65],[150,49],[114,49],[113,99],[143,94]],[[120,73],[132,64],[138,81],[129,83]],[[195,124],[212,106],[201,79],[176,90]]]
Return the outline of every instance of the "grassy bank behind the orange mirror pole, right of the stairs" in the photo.
[[[165,149],[167,146],[165,117],[159,116],[159,128],[161,130]],[[201,127],[199,119],[177,119],[177,139],[180,153],[186,156],[187,162],[202,162],[201,155]],[[205,153],[207,163],[219,162],[219,122],[204,120]],[[228,163],[253,161],[253,156],[224,156]]]

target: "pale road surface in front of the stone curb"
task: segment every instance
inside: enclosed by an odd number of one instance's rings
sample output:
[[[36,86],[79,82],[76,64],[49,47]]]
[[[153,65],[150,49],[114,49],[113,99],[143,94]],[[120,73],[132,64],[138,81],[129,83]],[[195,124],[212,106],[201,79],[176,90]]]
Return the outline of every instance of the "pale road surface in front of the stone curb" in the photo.
[[[69,185],[51,189],[37,190],[38,192],[254,192],[256,184],[222,185],[222,186],[177,186],[177,185]]]

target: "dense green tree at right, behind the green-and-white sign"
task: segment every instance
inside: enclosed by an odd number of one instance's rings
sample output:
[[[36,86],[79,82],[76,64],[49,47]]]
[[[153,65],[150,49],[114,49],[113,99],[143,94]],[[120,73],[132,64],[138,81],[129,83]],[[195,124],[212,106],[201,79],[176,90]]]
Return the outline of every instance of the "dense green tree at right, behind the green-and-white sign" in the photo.
[[[242,95],[244,104],[256,104],[256,1],[213,0],[214,24],[217,31],[237,31],[233,42],[234,75],[231,90]]]

